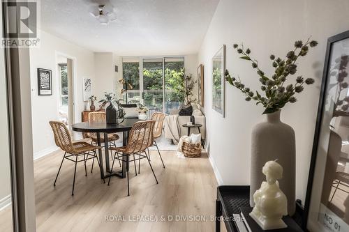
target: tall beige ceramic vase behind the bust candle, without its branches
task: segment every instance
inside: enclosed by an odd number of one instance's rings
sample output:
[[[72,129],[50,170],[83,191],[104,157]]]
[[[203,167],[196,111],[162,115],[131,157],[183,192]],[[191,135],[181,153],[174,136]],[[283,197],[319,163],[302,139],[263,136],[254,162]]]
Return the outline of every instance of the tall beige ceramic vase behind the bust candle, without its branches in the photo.
[[[250,205],[253,207],[253,194],[265,181],[262,167],[269,160],[278,160],[283,167],[280,189],[288,199],[288,215],[295,213],[295,131],[280,121],[280,112],[267,114],[267,120],[258,123],[252,132],[251,150],[251,190]]]

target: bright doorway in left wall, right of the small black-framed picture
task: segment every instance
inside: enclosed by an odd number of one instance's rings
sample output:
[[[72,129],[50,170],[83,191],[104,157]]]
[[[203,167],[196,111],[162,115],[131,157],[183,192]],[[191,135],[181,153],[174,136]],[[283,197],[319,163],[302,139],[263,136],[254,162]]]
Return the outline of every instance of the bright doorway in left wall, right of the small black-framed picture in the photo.
[[[59,121],[66,124],[72,133],[71,125],[74,123],[74,60],[64,55],[57,56],[57,74],[59,84]]]

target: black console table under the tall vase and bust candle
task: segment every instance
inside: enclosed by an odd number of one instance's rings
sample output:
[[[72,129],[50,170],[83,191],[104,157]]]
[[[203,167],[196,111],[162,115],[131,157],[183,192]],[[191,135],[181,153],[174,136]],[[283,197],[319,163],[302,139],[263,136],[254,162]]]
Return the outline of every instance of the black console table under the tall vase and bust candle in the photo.
[[[244,217],[246,217],[246,222],[248,223],[248,226],[252,232],[262,231],[258,224],[248,216],[248,212],[251,212],[252,210],[252,208],[250,208],[249,199],[249,186],[218,186],[216,199],[216,232],[221,231],[221,219],[223,219],[228,232],[240,232],[234,220],[234,215],[239,215],[241,211],[244,212]],[[297,209],[299,209],[299,206],[297,206]],[[302,232],[302,229],[299,226],[301,223],[299,221],[300,217],[299,212],[296,212],[293,217],[283,217],[283,221],[288,225],[288,228],[269,231]]]

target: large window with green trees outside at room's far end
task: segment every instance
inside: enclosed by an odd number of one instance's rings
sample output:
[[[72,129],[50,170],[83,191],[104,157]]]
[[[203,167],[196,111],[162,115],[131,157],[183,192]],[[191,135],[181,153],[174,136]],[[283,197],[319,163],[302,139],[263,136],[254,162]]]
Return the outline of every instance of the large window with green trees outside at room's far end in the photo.
[[[149,116],[170,114],[184,102],[184,57],[124,58],[122,69],[124,102],[142,103]]]

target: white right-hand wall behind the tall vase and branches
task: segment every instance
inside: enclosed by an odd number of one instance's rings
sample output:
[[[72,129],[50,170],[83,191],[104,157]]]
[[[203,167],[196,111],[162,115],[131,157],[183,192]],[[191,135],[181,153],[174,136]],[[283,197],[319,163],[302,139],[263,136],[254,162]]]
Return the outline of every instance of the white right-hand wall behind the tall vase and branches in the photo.
[[[262,107],[245,102],[242,93],[226,84],[225,118],[211,109],[211,58],[227,45],[226,67],[239,75],[246,86],[258,90],[258,76],[251,63],[238,59],[233,43],[244,42],[267,74],[272,73],[270,54],[284,57],[295,40],[312,36],[319,45],[299,60],[298,74],[313,77],[298,102],[286,105],[281,119],[296,133],[297,198],[304,201],[313,133],[320,93],[327,38],[349,29],[347,0],[221,0],[211,21],[198,55],[205,65],[205,114],[209,154],[216,164],[218,179],[225,185],[248,185],[251,153],[251,130],[262,121]],[[292,79],[292,77],[290,77]]]

